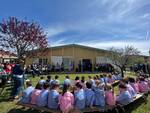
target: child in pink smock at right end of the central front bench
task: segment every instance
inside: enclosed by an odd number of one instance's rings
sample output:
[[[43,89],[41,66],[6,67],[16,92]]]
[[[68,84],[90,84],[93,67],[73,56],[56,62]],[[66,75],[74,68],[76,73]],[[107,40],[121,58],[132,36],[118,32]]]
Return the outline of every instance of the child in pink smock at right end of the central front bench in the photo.
[[[114,95],[114,91],[112,90],[112,86],[110,84],[107,84],[105,86],[105,98],[106,98],[106,104],[113,106],[116,104],[116,96]]]

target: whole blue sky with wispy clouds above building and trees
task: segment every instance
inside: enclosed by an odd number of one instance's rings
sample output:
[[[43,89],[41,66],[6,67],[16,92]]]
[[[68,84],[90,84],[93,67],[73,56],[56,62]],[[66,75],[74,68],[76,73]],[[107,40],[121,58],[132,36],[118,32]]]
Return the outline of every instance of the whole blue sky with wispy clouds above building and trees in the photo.
[[[149,0],[0,0],[0,20],[9,16],[38,22],[51,46],[150,48]]]

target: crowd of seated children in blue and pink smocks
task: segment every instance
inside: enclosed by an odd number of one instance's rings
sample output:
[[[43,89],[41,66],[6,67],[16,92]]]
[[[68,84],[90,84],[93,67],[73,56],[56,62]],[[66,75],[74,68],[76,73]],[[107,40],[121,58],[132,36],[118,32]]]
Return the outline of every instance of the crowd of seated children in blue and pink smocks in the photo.
[[[82,110],[85,107],[97,106],[104,108],[105,105],[126,105],[133,101],[138,93],[147,93],[150,80],[142,76],[122,79],[121,75],[96,75],[93,78],[76,77],[71,81],[66,76],[63,84],[60,84],[59,76],[52,80],[51,76],[44,80],[41,77],[34,88],[31,81],[26,81],[27,88],[24,90],[21,102],[44,106],[50,109],[60,109],[63,113],[69,113],[73,109]],[[119,80],[119,93],[114,94],[112,83]]]

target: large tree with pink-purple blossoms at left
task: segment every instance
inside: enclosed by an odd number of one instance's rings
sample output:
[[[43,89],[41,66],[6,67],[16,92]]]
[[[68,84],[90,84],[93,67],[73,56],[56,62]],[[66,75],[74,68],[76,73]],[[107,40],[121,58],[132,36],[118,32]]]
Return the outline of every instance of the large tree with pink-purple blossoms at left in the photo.
[[[13,51],[18,59],[24,59],[28,51],[46,48],[46,34],[35,22],[9,17],[0,23],[0,47]]]

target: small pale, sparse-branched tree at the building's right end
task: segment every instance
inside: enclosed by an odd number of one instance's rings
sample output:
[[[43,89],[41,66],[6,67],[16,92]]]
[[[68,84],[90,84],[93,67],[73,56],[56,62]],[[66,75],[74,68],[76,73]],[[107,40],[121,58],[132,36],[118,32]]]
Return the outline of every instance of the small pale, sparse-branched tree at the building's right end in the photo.
[[[132,46],[126,46],[121,49],[112,47],[110,48],[110,51],[109,57],[113,61],[113,64],[120,68],[123,77],[126,66],[132,61],[132,56],[139,55],[140,53]]]

